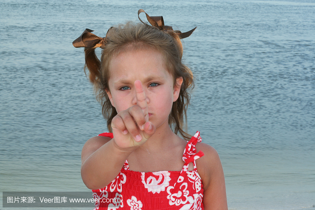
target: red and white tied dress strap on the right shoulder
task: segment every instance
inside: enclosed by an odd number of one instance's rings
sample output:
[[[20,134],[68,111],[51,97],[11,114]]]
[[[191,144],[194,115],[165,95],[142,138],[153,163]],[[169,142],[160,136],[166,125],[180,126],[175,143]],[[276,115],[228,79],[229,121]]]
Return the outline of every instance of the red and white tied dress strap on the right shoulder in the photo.
[[[187,173],[187,168],[188,168],[188,164],[190,162],[193,163],[194,166],[194,171],[197,172],[197,167],[196,167],[196,160],[199,157],[204,156],[202,151],[197,152],[196,150],[196,144],[197,142],[201,142],[201,137],[200,137],[200,133],[199,131],[197,131],[197,133],[188,141],[185,150],[184,150],[184,154],[183,154],[183,161],[184,163],[184,167],[181,169],[180,175],[177,179],[177,183],[175,183],[174,185],[174,189],[173,189],[173,193],[178,193],[179,189],[180,189],[180,184],[181,182],[183,182],[184,177],[186,176]]]

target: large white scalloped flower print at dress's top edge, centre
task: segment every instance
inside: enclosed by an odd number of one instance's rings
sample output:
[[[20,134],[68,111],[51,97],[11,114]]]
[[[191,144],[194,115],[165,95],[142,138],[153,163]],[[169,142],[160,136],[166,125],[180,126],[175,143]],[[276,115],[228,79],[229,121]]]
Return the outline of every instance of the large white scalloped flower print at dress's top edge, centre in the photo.
[[[170,173],[168,171],[153,172],[151,176],[146,177],[146,173],[141,172],[141,179],[148,192],[160,193],[169,186]]]

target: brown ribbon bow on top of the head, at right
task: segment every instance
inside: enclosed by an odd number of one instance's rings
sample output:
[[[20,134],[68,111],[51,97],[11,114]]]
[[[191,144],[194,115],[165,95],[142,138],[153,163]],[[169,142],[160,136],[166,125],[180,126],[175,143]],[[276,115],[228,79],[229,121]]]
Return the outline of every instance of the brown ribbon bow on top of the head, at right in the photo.
[[[138,18],[139,20],[146,26],[149,26],[148,24],[144,23],[140,17],[139,17],[139,14],[141,12],[144,12],[146,13],[143,9],[139,9],[138,10]],[[154,26],[154,27],[157,27],[158,29],[160,30],[164,30],[164,31],[174,31],[172,26],[165,26],[164,25],[164,20],[163,20],[163,16],[149,16],[148,14],[146,14],[146,19],[149,21],[149,23]],[[190,30],[190,31],[187,31],[187,32],[184,32],[182,33],[181,31],[174,31],[181,39],[183,38],[186,38],[186,37],[189,37],[193,31],[195,31],[197,27],[195,27],[194,29]]]

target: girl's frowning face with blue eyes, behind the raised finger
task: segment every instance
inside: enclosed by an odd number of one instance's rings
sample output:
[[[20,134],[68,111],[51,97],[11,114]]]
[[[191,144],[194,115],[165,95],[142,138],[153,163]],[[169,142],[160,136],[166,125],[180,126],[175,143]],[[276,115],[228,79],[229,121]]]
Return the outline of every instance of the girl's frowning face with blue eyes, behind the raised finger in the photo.
[[[152,49],[122,52],[112,58],[109,71],[107,94],[117,113],[137,105],[134,82],[140,80],[146,94],[149,121],[156,128],[168,125],[183,79],[177,78],[178,85],[174,87],[173,76],[166,70],[160,53]]]

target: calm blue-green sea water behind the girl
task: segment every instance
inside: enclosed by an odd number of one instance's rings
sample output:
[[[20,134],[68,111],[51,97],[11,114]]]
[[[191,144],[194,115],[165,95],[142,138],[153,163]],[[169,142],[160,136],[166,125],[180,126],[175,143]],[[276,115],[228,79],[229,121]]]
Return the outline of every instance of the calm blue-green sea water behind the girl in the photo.
[[[106,121],[72,41],[144,9],[174,29],[198,26],[184,40],[196,78],[188,127],[219,152],[229,209],[315,209],[314,0],[2,0],[0,9],[0,191],[88,190],[81,149]]]

